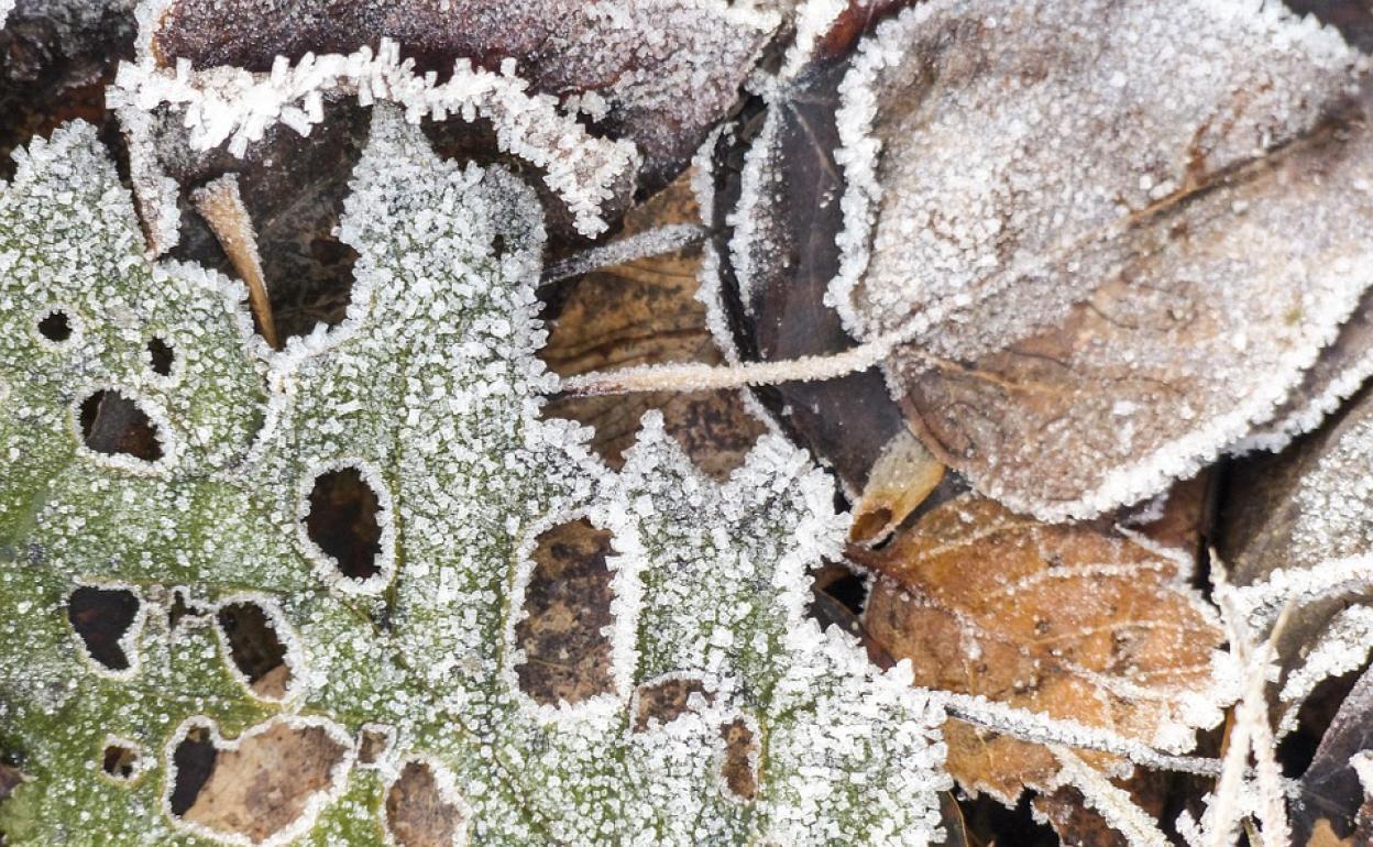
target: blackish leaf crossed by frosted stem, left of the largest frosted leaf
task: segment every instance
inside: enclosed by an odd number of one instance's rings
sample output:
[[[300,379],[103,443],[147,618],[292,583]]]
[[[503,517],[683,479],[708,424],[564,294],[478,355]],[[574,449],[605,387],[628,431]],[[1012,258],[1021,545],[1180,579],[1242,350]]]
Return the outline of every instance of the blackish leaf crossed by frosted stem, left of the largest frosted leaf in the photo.
[[[825,286],[839,269],[833,233],[843,221],[833,159],[843,74],[843,65],[817,67],[789,82],[781,107],[746,106],[746,129],[722,135],[715,146],[710,220],[718,264],[707,284],[718,288],[728,317],[729,338],[722,340],[741,358],[799,358],[854,343],[825,306]],[[906,428],[876,368],[755,394],[853,496],[883,448]]]

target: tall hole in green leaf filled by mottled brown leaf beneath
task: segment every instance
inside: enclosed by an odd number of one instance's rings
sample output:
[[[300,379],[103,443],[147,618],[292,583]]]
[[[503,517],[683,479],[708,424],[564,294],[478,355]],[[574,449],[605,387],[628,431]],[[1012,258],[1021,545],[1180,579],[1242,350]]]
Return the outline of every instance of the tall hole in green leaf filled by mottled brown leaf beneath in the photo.
[[[610,675],[612,535],[586,519],[559,524],[534,546],[534,572],[524,590],[526,616],[515,641],[526,660],[516,666],[520,691],[538,703],[579,703],[614,691]]]

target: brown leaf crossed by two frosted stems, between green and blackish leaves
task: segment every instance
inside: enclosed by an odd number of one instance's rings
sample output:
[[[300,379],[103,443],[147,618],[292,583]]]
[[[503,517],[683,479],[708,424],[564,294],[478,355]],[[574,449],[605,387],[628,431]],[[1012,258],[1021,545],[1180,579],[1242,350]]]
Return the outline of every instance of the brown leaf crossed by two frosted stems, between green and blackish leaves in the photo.
[[[632,211],[619,237],[699,222],[689,176]],[[699,247],[686,247],[573,280],[559,298],[540,358],[559,376],[640,364],[724,361],[706,328],[706,308],[696,299],[700,262]],[[736,391],[564,397],[549,402],[544,413],[593,426],[593,449],[619,468],[649,409],[662,410],[667,431],[717,479],[741,465],[765,431]]]

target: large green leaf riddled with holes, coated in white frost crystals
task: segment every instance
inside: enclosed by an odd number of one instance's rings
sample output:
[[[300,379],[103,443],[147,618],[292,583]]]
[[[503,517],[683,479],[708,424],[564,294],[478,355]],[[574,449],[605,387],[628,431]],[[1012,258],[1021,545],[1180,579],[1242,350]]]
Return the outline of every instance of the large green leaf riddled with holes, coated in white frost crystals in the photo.
[[[717,485],[652,417],[607,471],[540,419],[533,191],[384,107],[353,176],[347,320],[279,353],[238,283],[146,258],[89,126],[0,191],[0,747],[29,777],[10,843],[402,843],[404,774],[453,843],[928,843],[943,712],[802,615],[842,539],[828,478],[768,438]],[[341,475],[376,504],[362,570],[310,529]],[[614,685],[540,706],[515,625],[535,538],[575,519],[614,537]],[[111,599],[119,626],[78,631]],[[273,680],[224,625],[251,610]],[[662,681],[696,693],[638,725]],[[722,776],[725,726],[751,733],[752,796]],[[192,741],[216,769],[308,741],[288,765],[314,782],[291,815],[173,813]]]

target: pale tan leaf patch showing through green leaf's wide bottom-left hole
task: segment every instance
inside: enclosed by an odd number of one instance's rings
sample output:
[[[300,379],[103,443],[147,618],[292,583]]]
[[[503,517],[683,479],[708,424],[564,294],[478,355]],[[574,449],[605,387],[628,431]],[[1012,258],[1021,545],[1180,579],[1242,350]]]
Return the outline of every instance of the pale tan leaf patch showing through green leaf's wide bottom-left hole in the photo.
[[[217,744],[217,747],[220,747]],[[323,726],[279,721],[221,747],[183,820],[261,843],[332,787],[346,748]]]

